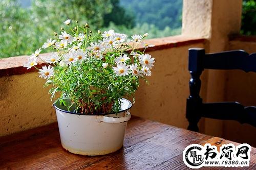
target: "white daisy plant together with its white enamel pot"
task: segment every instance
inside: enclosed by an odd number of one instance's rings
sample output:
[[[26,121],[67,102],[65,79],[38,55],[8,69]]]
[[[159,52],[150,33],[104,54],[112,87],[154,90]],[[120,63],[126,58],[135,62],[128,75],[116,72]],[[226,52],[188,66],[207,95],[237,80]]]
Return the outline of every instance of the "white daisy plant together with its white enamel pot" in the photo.
[[[132,103],[124,98],[133,96],[139,79],[151,76],[155,62],[138,50],[148,34],[134,35],[127,43],[127,36],[114,30],[92,33],[88,24],[65,23],[56,39],[42,45],[54,53],[43,60],[39,48],[24,67],[38,69],[45,86],[52,86],[51,100],[59,92],[54,107],[63,148],[81,155],[115,152],[122,147],[131,117]],[[37,68],[38,60],[47,65]]]

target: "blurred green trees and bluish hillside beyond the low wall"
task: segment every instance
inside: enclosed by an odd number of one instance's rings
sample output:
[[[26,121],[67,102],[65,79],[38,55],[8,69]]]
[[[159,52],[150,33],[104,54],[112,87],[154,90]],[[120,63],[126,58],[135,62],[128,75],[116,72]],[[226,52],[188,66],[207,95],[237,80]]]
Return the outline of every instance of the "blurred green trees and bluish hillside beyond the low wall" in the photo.
[[[22,1],[0,1],[0,58],[32,54],[67,19],[129,36],[148,32],[150,38],[164,37],[181,30],[182,0],[31,0],[26,8]]]

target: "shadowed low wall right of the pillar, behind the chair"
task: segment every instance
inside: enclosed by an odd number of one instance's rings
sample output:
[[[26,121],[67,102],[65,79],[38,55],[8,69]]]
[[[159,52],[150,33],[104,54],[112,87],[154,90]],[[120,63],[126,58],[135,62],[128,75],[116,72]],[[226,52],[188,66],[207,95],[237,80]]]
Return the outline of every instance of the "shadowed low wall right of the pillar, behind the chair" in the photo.
[[[256,42],[230,41],[229,50],[245,50],[247,53],[255,53]],[[244,106],[256,106],[256,73],[241,70],[227,72],[226,80],[227,101],[238,101]],[[228,121],[224,125],[224,136],[230,140],[250,143],[256,146],[256,128],[250,125],[241,125],[235,121]]]

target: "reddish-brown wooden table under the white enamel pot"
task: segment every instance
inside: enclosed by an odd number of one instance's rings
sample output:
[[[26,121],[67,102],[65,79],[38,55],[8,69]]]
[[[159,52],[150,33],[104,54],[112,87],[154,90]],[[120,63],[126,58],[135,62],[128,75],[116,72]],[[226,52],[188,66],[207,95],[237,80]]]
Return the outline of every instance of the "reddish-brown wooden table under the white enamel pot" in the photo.
[[[122,149],[104,156],[80,156],[62,149],[55,123],[0,138],[0,169],[188,169],[182,160],[187,145],[211,142],[220,147],[231,142],[220,140],[133,116]],[[256,169],[255,148],[246,168]]]

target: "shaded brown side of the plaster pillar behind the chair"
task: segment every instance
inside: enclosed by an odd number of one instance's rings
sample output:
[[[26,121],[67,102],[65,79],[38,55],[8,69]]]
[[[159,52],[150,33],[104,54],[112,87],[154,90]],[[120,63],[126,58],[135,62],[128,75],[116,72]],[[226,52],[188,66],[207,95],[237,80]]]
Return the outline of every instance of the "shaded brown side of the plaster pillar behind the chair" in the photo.
[[[229,35],[240,31],[241,15],[242,0],[212,0],[208,53],[228,50]],[[206,102],[225,101],[226,76],[225,70],[208,71]],[[205,134],[225,137],[223,129],[222,120],[205,119]]]

